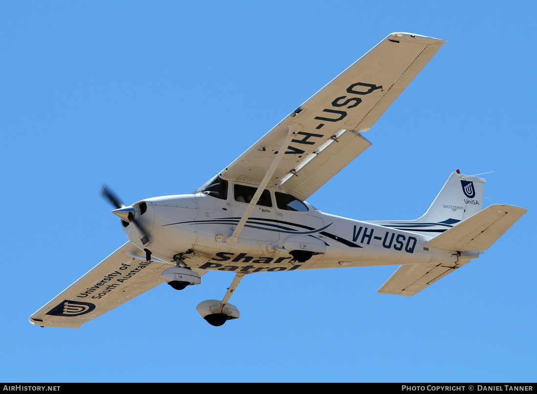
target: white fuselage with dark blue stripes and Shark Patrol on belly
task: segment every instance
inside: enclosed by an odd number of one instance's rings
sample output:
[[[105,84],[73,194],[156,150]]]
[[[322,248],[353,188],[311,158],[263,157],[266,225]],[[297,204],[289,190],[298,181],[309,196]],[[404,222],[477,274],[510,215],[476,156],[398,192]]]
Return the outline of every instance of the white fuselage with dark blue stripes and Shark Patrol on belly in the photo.
[[[175,264],[174,256],[182,254],[188,267],[215,271],[277,272],[457,261],[456,252],[427,245],[431,237],[323,213],[277,187],[266,189],[260,200],[263,205],[255,206],[238,242],[228,244],[226,238],[248,206],[248,196],[244,202],[243,195],[249,189],[249,185],[233,183],[226,196],[197,192],[145,199],[134,206],[147,204],[136,220],[151,242],[142,245],[132,225],[124,225],[125,233],[137,247],[170,264]],[[284,250],[289,244],[306,250],[313,244],[320,249],[307,261],[300,261]]]

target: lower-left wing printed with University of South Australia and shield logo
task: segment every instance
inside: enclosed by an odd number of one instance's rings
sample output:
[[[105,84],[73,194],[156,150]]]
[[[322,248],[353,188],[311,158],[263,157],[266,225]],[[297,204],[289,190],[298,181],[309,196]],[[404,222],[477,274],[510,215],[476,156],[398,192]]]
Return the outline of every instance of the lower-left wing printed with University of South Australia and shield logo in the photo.
[[[30,317],[30,323],[48,327],[80,328],[85,322],[132,300],[164,280],[169,264],[145,261],[132,242],[106,257]],[[207,271],[196,270],[200,276]]]

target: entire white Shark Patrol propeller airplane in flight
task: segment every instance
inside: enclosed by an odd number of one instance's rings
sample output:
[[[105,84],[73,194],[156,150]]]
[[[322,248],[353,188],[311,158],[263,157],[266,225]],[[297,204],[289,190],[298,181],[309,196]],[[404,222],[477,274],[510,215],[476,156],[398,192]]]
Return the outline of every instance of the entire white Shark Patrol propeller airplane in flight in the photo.
[[[236,276],[222,300],[197,309],[212,325],[239,317],[228,303],[250,273],[401,265],[379,293],[411,296],[477,258],[526,210],[482,210],[484,179],[451,174],[415,220],[358,221],[304,200],[371,143],[369,130],[445,41],[393,33],[286,116],[192,194],[125,206],[106,188],[129,241],[30,317],[79,328],[164,281],[208,271]]]

